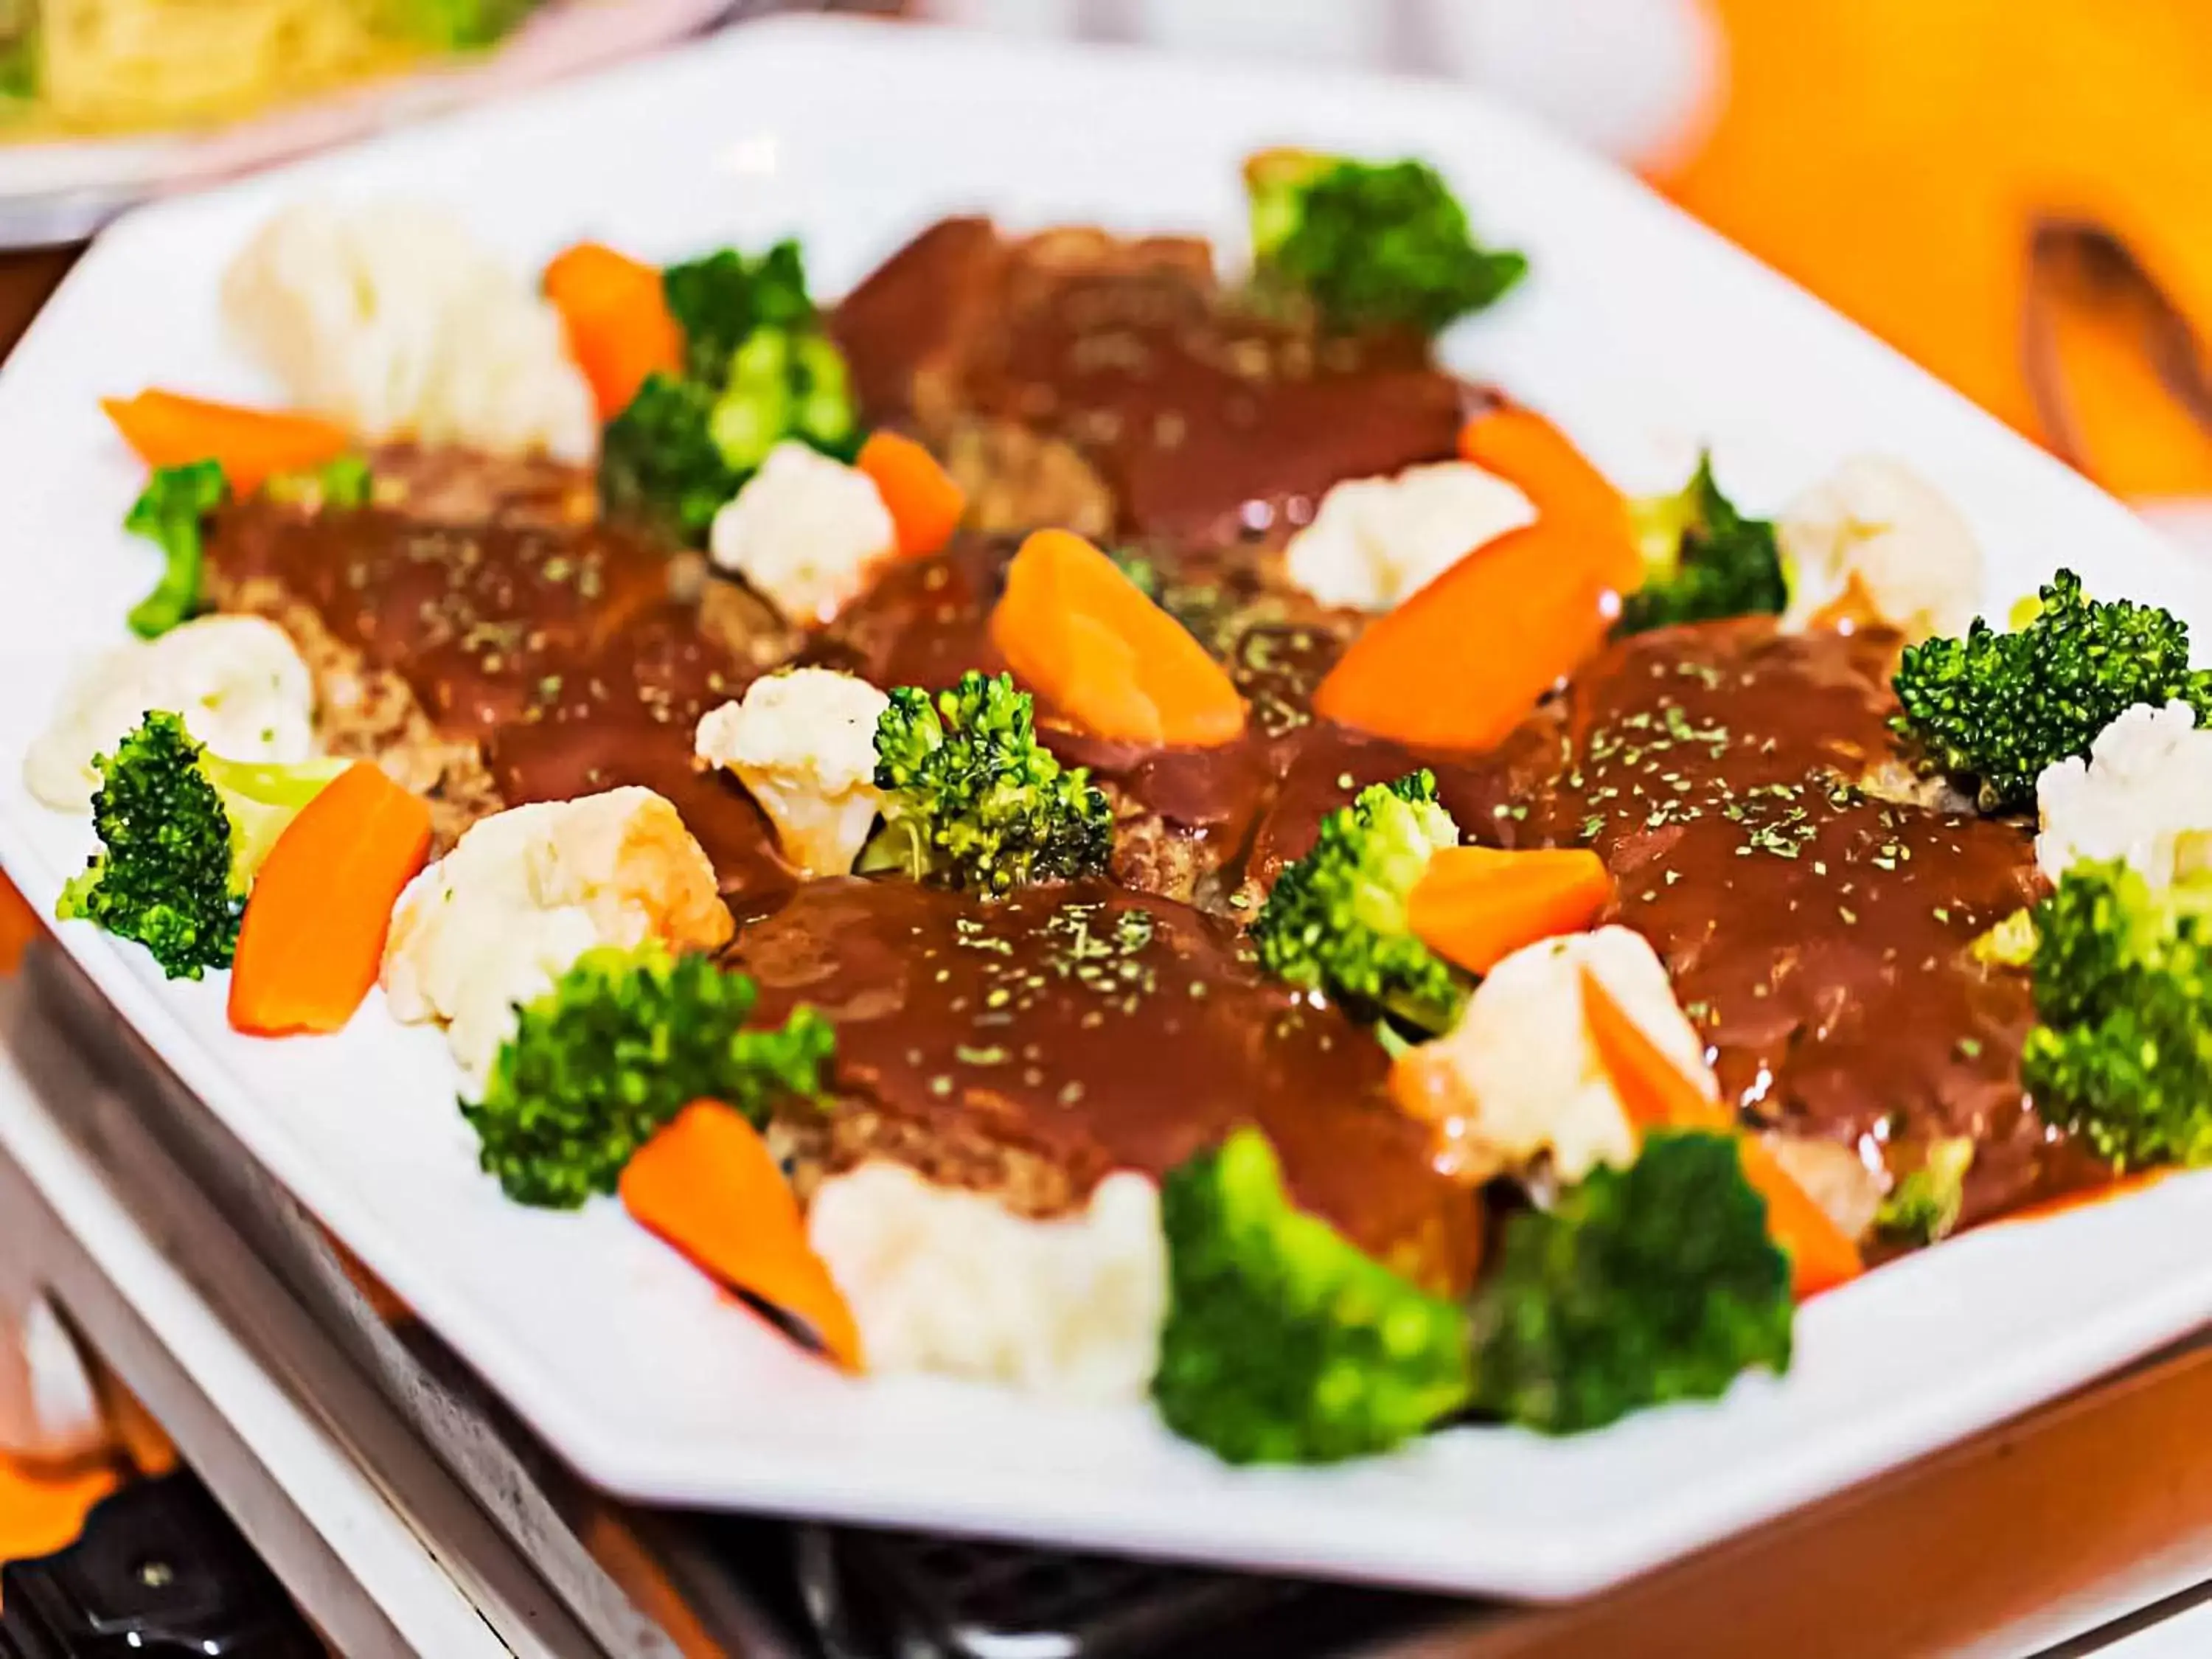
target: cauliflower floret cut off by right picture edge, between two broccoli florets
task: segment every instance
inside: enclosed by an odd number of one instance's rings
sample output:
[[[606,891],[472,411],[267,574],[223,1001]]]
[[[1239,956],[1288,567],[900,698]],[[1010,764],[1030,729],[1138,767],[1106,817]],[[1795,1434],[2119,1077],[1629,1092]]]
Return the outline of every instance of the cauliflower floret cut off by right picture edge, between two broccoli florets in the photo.
[[[2097,732],[2088,759],[2035,781],[2035,863],[2057,880],[2084,858],[2124,858],[2152,887],[2212,867],[2212,732],[2183,701],[2137,703]]]

